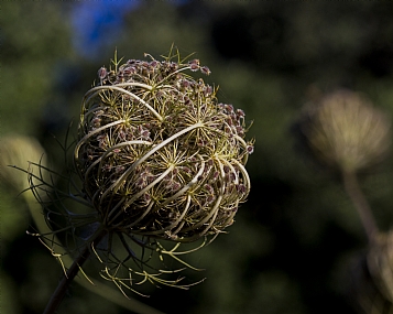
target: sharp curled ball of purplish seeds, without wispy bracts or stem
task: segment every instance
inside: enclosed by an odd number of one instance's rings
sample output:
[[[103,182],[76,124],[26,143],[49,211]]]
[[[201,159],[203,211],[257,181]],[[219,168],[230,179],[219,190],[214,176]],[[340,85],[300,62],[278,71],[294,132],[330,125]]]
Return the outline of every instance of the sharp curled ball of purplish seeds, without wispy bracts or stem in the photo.
[[[244,112],[218,104],[198,59],[129,59],[83,100],[75,164],[105,226],[176,241],[216,235],[250,191]],[[177,62],[173,58],[177,57]]]

